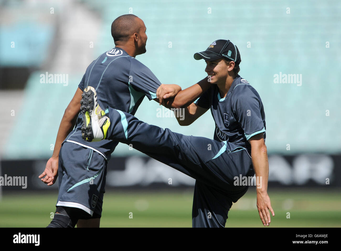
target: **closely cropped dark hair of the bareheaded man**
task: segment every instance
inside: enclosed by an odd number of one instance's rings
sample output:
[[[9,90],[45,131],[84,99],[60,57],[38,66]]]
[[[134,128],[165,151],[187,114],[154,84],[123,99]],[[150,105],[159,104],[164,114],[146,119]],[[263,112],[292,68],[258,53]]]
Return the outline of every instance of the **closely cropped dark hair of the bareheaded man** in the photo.
[[[111,35],[114,42],[127,42],[131,34],[138,33],[140,27],[136,22],[137,16],[133,14],[125,14],[119,16],[111,25]]]

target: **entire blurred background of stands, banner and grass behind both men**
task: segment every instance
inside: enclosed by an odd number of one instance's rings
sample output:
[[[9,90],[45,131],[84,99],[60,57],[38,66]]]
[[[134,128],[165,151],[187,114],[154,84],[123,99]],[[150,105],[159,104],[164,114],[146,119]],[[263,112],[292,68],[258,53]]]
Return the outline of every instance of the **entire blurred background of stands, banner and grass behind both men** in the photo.
[[[239,74],[265,108],[270,227],[341,226],[339,1],[0,0],[0,178],[27,177],[26,188],[0,185],[0,227],[51,221],[58,185],[38,176],[87,66],[114,47],[110,27],[123,14],[145,22],[147,52],[136,59],[165,84],[203,79],[206,64],[193,54],[217,39],[235,43]],[[213,138],[210,112],[187,127],[170,114],[145,98],[135,116]],[[108,164],[101,226],[191,227],[194,182],[120,143]],[[255,187],[228,216],[226,227],[263,226]]]

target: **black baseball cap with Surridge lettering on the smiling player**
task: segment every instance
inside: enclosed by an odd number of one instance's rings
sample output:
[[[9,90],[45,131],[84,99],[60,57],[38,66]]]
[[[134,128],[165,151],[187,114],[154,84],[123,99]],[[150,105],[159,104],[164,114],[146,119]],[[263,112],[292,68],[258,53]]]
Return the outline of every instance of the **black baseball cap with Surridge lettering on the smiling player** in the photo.
[[[211,43],[206,51],[194,54],[196,60],[205,59],[207,61],[214,61],[221,57],[234,61],[237,65],[239,65],[241,61],[237,46],[225,39],[218,39]]]

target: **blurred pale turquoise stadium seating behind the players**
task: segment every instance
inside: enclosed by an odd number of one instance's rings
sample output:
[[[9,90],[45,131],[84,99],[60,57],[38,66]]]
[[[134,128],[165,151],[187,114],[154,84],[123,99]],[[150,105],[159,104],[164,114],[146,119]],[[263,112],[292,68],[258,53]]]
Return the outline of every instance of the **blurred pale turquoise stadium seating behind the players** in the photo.
[[[94,59],[114,47],[111,23],[115,17],[128,14],[130,8],[144,20],[148,35],[147,53],[136,58],[165,84],[175,83],[186,88],[204,78],[205,62],[194,60],[193,54],[205,50],[215,39],[230,39],[241,54],[239,74],[262,98],[268,152],[333,153],[341,150],[338,123],[341,87],[337,81],[341,56],[337,48],[341,40],[339,2],[334,2],[336,6],[328,1],[316,1],[312,5],[309,1],[279,4],[252,0],[234,1],[233,4],[222,0],[148,3],[136,0],[120,4],[82,0],[81,3],[98,13],[103,23],[94,47]],[[290,8],[290,14],[287,14],[287,8]],[[26,29],[29,34],[36,26],[27,24],[23,30]],[[39,37],[43,49],[50,32],[34,34]],[[330,47],[326,47],[326,42]],[[30,53],[25,58],[31,58],[31,63],[37,64],[36,58],[31,57],[37,52]],[[6,54],[4,57],[10,64],[11,56]],[[301,74],[302,82],[274,83],[274,75],[280,72]],[[6,143],[5,158],[51,156],[50,144],[55,143],[63,111],[83,73],[69,75],[68,86],[40,84],[38,72],[30,76],[23,101],[25,107],[16,115],[16,125]],[[162,109],[145,98],[136,116],[183,134],[213,138],[214,122],[210,112],[191,126],[180,127],[175,118],[158,118],[158,108]],[[326,110],[329,110],[329,116],[326,116]],[[23,126],[27,128],[22,130]],[[290,144],[290,151],[287,151],[287,144]],[[122,156],[136,152],[120,144],[114,154]]]

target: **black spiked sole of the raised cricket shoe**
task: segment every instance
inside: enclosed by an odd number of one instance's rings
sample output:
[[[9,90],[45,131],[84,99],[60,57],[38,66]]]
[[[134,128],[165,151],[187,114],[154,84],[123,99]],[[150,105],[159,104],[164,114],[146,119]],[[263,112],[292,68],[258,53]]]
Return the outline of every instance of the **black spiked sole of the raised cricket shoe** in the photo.
[[[92,88],[92,87],[91,87]],[[80,101],[80,112],[83,115],[83,122],[81,127],[82,138],[85,141],[91,142],[93,140],[93,131],[91,127],[91,112],[95,109],[95,103],[97,103],[97,97],[90,86],[84,89],[82,99]],[[86,126],[87,120],[89,124]]]

